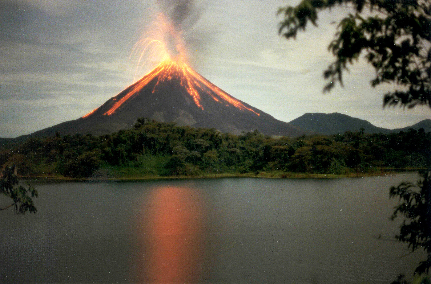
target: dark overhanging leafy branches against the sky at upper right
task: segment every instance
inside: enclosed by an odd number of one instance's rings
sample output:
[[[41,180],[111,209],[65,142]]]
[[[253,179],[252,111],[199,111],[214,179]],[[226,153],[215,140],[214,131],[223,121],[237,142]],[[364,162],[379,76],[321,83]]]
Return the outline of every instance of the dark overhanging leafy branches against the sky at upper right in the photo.
[[[330,91],[343,85],[343,72],[361,54],[375,69],[371,85],[395,83],[398,90],[384,95],[384,105],[431,107],[431,2],[424,0],[302,0],[280,8],[279,33],[296,38],[318,13],[335,6],[353,6],[338,24],[328,50],[336,60],[324,71]]]

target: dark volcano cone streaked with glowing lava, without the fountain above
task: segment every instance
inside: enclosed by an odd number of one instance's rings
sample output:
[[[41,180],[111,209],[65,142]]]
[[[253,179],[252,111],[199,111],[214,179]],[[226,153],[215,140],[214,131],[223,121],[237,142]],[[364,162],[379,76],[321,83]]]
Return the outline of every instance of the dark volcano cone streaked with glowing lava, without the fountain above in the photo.
[[[309,133],[228,95],[187,64],[169,60],[84,117],[39,130],[31,136],[104,135],[133,127],[138,117],[233,134],[255,129],[276,136]]]

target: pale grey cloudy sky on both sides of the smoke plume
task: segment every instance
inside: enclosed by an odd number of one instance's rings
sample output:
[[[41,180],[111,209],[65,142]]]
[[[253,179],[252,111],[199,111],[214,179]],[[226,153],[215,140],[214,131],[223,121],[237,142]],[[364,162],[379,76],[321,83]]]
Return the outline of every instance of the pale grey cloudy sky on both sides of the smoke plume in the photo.
[[[130,85],[134,44],[169,2],[0,0],[0,137],[82,117]],[[344,88],[322,93],[322,73],[334,61],[327,49],[333,22],[349,7],[320,13],[318,27],[287,41],[276,13],[297,0],[191,2],[184,30],[190,65],[278,120],[338,112],[394,129],[431,117],[429,107],[383,108],[383,95],[396,86],[372,88],[375,71],[362,59],[344,75]]]

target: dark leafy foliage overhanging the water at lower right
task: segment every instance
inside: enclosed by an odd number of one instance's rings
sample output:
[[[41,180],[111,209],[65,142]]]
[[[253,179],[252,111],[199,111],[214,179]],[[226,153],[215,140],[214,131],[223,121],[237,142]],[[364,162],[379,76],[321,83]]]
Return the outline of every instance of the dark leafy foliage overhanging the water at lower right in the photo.
[[[419,263],[415,274],[428,273],[431,266],[431,172],[423,172],[417,185],[403,182],[392,186],[389,196],[399,198],[391,219],[404,217],[397,240],[408,243],[412,251],[425,250],[427,259]]]

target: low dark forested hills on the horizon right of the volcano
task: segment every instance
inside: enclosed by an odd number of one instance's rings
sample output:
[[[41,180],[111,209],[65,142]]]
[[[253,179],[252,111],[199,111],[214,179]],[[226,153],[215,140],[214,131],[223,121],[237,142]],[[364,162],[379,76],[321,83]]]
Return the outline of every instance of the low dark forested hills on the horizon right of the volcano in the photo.
[[[422,120],[412,126],[400,129],[387,129],[372,125],[366,120],[355,117],[350,117],[346,114],[332,113],[306,113],[302,116],[290,121],[290,124],[297,126],[301,129],[309,130],[315,133],[333,135],[342,134],[346,131],[359,131],[361,128],[365,129],[365,133],[397,133],[406,131],[409,128],[419,130],[425,129],[425,132],[431,131],[431,120]]]

